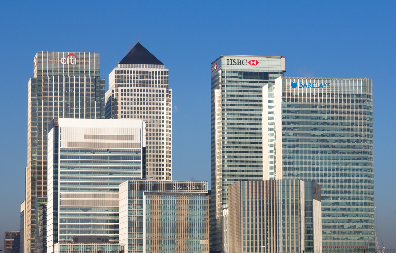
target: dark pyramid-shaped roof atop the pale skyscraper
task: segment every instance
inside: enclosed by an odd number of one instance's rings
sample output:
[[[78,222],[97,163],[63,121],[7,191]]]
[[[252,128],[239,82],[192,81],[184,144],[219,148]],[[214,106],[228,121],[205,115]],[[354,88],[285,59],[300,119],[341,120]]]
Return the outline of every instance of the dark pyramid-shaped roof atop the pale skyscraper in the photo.
[[[125,55],[124,59],[120,61],[120,64],[153,64],[163,65],[152,53],[150,53],[144,46],[139,42]]]

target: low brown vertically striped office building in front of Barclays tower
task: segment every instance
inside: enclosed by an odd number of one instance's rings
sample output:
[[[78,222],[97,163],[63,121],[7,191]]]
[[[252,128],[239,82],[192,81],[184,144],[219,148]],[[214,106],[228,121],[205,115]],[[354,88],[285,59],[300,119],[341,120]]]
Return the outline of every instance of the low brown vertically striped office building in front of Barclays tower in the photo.
[[[228,186],[228,191],[227,252],[322,250],[317,183],[297,179],[247,181]]]

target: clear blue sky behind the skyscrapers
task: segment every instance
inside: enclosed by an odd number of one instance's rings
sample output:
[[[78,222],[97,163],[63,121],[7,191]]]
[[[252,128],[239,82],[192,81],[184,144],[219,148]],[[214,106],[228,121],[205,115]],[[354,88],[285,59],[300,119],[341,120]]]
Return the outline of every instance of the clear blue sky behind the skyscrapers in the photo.
[[[376,226],[396,249],[395,9],[394,1],[1,1],[0,233],[19,230],[36,52],[99,52],[107,83],[140,42],[169,68],[175,180],[210,181],[209,68],[220,55],[281,55],[285,76],[373,78]]]

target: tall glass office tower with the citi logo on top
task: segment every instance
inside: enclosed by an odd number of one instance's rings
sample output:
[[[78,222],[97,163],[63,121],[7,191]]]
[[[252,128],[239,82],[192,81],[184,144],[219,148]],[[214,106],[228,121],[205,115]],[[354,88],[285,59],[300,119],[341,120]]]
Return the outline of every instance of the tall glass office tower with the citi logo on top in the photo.
[[[28,97],[25,252],[35,253],[35,201],[47,196],[47,132],[53,118],[105,118],[99,53],[38,51]]]

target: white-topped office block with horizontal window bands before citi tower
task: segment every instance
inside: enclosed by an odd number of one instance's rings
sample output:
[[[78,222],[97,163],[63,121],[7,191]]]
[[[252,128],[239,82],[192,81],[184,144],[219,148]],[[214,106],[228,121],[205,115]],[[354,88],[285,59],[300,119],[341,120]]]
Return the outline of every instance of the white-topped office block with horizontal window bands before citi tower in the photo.
[[[142,178],[145,124],[137,119],[51,121],[48,253],[76,235],[118,242],[118,185]]]

